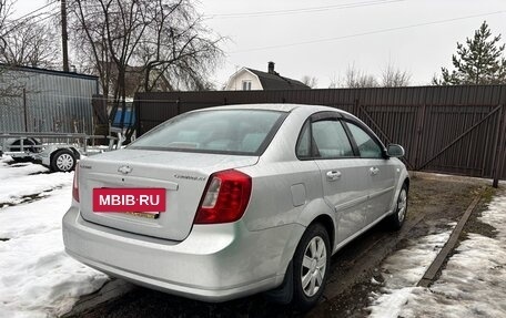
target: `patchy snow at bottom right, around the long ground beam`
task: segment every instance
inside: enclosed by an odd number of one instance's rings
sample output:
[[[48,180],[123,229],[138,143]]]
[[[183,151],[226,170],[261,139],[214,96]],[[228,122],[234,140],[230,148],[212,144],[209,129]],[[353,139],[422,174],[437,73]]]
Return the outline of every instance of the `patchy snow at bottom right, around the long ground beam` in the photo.
[[[429,288],[414,287],[424,274],[416,267],[419,245],[388,257],[384,268],[392,276],[382,295],[372,295],[371,317],[506,317],[506,193],[479,219],[497,235],[469,234]]]

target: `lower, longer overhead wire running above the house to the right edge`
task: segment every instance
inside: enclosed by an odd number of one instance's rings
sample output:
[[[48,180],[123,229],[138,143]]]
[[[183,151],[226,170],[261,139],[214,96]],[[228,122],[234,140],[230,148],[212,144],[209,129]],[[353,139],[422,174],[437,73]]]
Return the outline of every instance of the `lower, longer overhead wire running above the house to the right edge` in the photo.
[[[351,38],[357,38],[357,37],[371,35],[371,34],[378,34],[378,33],[386,33],[386,32],[398,31],[398,30],[404,30],[404,29],[413,29],[413,28],[418,28],[418,27],[441,24],[441,23],[447,23],[447,22],[453,22],[453,21],[467,20],[467,19],[473,19],[473,18],[482,18],[482,17],[487,17],[487,16],[503,14],[503,13],[506,13],[506,10],[488,12],[488,13],[482,13],[482,14],[466,16],[466,17],[458,17],[458,18],[453,18],[453,19],[436,20],[436,21],[431,21],[431,22],[422,22],[422,23],[403,25],[403,27],[394,27],[394,28],[381,29],[381,30],[375,30],[375,31],[367,31],[367,32],[362,32],[362,33],[354,33],[354,34],[335,37],[335,38],[311,40],[311,41],[295,42],[295,43],[280,44],[280,45],[271,45],[271,47],[262,47],[262,48],[254,48],[254,49],[247,49],[247,50],[239,50],[239,51],[232,51],[232,52],[229,52],[229,53],[230,54],[235,54],[235,53],[243,53],[243,52],[254,52],[254,51],[282,49],[282,48],[289,48],[289,47],[298,47],[298,45],[304,45],[304,44],[332,42],[332,41],[338,41],[338,40],[344,40],[344,39],[351,39]]]

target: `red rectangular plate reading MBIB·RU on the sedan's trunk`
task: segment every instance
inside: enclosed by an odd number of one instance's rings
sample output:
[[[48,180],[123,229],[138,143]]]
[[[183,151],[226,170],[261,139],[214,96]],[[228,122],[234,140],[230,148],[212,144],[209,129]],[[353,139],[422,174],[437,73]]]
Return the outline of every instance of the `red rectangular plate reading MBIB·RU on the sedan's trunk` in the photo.
[[[93,188],[93,212],[163,213],[164,188]]]

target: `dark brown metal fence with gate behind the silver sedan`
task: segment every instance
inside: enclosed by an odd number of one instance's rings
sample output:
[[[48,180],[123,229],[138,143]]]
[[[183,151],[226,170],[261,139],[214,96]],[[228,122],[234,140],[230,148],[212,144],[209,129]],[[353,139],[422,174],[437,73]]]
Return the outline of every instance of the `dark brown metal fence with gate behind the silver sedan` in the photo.
[[[328,105],[399,143],[412,170],[506,179],[506,85],[140,93],[139,134],[179,113],[246,103]],[[154,102],[155,101],[155,102]],[[504,115],[502,115],[504,114]]]

